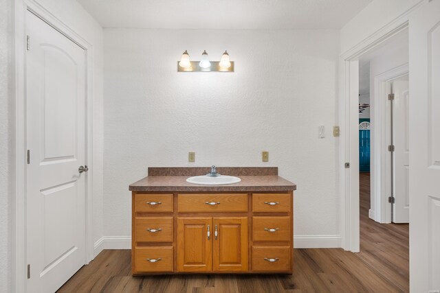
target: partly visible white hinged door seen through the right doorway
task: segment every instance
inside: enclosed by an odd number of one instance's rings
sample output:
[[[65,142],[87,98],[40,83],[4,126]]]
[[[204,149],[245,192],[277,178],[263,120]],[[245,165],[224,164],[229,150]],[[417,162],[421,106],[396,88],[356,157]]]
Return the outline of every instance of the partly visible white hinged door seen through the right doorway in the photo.
[[[393,222],[410,221],[408,75],[393,81]]]

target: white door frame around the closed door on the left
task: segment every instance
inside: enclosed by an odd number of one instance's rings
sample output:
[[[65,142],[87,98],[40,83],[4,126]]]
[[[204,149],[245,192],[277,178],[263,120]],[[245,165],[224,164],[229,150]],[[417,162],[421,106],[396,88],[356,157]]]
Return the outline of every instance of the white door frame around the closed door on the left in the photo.
[[[85,50],[85,165],[91,167],[92,172],[87,172],[85,178],[85,259],[84,263],[94,259],[93,242],[93,218],[92,218],[92,187],[93,187],[93,165],[92,165],[92,121],[93,121],[93,46],[80,34],[75,32],[66,23],[58,19],[50,11],[46,10],[35,0],[17,0],[13,5],[13,36],[12,42],[14,60],[14,202],[12,239],[12,279],[13,292],[26,292],[27,280],[27,257],[26,257],[26,14],[32,12],[55,30],[72,40],[76,45]],[[32,38],[31,38],[32,46]]]

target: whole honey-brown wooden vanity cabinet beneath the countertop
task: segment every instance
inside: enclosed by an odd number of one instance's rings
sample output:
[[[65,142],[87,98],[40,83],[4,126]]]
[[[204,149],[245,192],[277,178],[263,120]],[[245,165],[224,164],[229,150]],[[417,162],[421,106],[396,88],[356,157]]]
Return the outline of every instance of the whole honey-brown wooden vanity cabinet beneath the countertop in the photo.
[[[292,273],[293,191],[132,193],[132,273]]]

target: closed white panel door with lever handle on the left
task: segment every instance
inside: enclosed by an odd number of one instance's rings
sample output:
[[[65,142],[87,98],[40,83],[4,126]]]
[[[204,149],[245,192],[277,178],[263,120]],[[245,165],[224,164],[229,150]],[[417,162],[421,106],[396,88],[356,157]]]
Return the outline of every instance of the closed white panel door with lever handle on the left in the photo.
[[[54,292],[85,264],[85,50],[27,12],[28,292]]]

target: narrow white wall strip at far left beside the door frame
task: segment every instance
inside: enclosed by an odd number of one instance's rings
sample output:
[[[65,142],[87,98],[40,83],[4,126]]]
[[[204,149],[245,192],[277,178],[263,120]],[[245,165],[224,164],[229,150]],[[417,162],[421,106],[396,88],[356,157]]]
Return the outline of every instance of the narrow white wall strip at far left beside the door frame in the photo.
[[[0,0],[0,292],[11,288],[12,79],[11,1]]]

